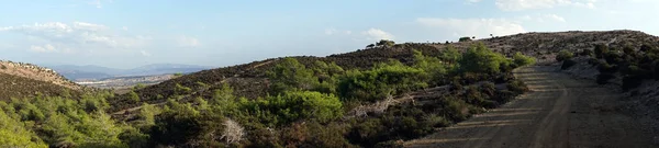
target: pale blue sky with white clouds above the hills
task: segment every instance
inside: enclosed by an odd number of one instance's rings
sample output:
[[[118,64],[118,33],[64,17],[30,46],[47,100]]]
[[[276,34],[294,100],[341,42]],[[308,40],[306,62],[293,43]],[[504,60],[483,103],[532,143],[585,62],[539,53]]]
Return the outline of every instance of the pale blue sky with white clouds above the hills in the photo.
[[[659,34],[657,0],[5,0],[0,59],[134,68],[326,56],[387,38],[524,32]]]

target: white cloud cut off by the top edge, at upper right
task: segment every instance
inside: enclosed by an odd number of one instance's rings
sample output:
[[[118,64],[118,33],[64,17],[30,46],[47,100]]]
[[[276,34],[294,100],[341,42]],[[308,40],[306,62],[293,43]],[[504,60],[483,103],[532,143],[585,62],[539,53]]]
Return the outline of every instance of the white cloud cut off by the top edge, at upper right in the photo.
[[[504,11],[549,9],[558,5],[573,5],[594,9],[596,0],[496,0],[496,7]]]

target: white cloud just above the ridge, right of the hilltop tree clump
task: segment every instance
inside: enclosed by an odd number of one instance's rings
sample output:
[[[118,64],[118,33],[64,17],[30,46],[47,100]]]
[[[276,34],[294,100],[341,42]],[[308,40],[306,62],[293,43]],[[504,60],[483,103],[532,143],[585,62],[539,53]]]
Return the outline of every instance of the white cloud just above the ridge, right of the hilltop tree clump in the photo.
[[[526,32],[522,25],[505,19],[436,19],[420,18],[416,23],[434,30],[451,34],[454,37],[477,36],[484,37],[493,34],[495,36],[511,35]]]

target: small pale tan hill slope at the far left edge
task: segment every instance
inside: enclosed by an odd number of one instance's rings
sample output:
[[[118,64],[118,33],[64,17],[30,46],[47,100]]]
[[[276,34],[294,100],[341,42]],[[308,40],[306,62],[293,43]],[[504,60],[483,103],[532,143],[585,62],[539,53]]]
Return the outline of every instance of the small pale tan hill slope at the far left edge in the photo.
[[[52,69],[32,64],[0,61],[0,100],[33,95],[75,95],[82,87]]]

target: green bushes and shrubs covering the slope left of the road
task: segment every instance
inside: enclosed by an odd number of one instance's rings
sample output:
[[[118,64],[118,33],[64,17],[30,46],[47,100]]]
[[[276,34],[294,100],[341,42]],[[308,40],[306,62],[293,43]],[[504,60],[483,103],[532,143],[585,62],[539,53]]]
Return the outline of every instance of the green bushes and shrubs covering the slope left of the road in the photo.
[[[0,144],[392,147],[400,146],[396,140],[431,134],[527,90],[510,77],[510,70],[533,64],[533,58],[521,54],[506,58],[482,44],[463,54],[451,47],[440,53],[424,50],[412,49],[410,60],[388,59],[365,68],[282,58],[263,73],[268,93],[252,99],[232,81],[217,79],[223,84],[206,84],[192,79],[194,75],[186,76],[191,82],[172,83],[170,94],[146,95],[144,90],[158,86],[139,87],[123,94],[124,102],[105,91],[11,99],[0,102]],[[416,100],[410,96],[412,92],[443,87],[450,92],[418,101],[423,103],[411,101]],[[205,89],[212,93],[193,95]],[[157,99],[167,102],[145,103]],[[113,103],[139,107],[115,112]]]

